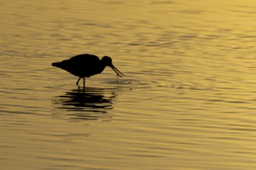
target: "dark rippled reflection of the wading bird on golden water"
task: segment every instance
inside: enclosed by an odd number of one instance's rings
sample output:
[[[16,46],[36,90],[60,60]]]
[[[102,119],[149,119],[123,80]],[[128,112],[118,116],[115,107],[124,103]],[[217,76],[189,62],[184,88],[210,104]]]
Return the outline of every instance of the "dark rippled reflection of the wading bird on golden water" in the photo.
[[[111,121],[108,110],[112,110],[112,99],[116,97],[114,89],[99,89],[86,87],[86,90],[75,89],[57,96],[54,103],[61,104],[65,116],[72,120],[102,120]]]

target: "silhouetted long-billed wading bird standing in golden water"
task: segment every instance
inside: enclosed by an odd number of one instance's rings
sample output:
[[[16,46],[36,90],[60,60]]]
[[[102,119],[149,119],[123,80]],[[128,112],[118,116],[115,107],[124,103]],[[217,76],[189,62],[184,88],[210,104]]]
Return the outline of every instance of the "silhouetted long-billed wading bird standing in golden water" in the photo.
[[[83,87],[85,89],[85,77],[90,77],[95,74],[102,73],[106,66],[110,66],[114,70],[117,76],[124,76],[116,67],[112,64],[112,59],[109,56],[103,56],[99,59],[98,56],[92,54],[79,54],[73,56],[70,59],[65,59],[61,62],[52,63],[52,66],[66,70],[67,72],[78,76],[77,85],[79,86],[79,81],[83,78]]]

